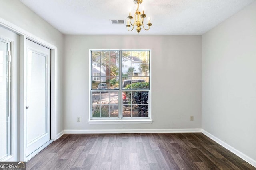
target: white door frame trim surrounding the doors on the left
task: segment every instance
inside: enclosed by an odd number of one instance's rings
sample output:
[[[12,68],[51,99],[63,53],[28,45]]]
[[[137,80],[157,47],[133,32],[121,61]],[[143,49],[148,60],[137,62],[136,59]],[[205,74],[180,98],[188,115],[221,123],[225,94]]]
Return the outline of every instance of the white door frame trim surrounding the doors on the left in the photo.
[[[43,39],[40,39],[39,37],[29,33],[28,31],[25,31],[24,29],[0,18],[0,25],[2,27],[5,27],[6,29],[9,29],[13,31],[14,33],[20,35],[20,44],[19,44],[19,51],[18,51],[18,59],[17,59],[17,67],[16,72],[13,74],[16,74],[18,77],[18,106],[16,109],[18,110],[18,160],[19,161],[28,161],[31,159],[33,156],[35,156],[38,152],[40,152],[42,149],[44,149],[46,146],[48,146],[52,141],[57,139],[57,47],[44,41]],[[26,120],[26,80],[24,77],[26,77],[26,39],[29,39],[31,41],[34,41],[35,43],[38,43],[44,47],[47,47],[48,49],[51,50],[51,84],[50,84],[50,89],[51,89],[51,102],[50,102],[50,121],[51,121],[51,127],[50,127],[50,141],[46,143],[46,145],[43,145],[40,147],[36,152],[33,154],[30,154],[27,158],[25,157],[25,123],[24,121]],[[14,69],[15,70],[15,69]]]

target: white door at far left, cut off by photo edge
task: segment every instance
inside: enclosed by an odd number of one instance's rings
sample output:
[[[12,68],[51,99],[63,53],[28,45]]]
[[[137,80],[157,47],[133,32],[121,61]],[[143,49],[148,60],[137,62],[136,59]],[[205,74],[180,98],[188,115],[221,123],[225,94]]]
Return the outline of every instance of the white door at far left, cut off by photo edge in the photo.
[[[17,47],[19,36],[0,26],[0,161],[17,159]]]

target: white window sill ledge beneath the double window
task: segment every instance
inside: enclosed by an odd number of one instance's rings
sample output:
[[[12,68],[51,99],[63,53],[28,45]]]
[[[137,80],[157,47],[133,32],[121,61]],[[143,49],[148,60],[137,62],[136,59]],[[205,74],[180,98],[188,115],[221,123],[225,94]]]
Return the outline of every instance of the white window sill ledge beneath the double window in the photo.
[[[151,124],[152,120],[89,120],[89,124]]]

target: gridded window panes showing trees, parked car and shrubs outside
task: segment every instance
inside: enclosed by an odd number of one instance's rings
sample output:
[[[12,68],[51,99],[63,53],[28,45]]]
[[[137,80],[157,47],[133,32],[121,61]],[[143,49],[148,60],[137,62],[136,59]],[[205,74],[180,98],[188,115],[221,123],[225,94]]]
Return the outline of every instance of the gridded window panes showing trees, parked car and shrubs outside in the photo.
[[[91,51],[91,119],[150,117],[149,59],[150,51]]]

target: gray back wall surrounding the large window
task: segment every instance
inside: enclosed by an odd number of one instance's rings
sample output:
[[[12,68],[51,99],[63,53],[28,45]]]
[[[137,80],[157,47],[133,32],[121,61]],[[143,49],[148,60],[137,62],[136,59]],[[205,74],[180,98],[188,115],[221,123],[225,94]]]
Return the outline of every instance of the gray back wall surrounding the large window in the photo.
[[[152,124],[88,124],[89,49],[152,50]],[[65,35],[64,53],[64,129],[201,128],[201,36]]]

